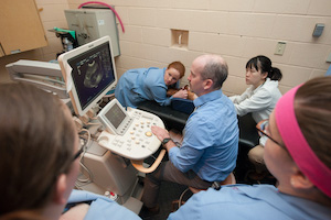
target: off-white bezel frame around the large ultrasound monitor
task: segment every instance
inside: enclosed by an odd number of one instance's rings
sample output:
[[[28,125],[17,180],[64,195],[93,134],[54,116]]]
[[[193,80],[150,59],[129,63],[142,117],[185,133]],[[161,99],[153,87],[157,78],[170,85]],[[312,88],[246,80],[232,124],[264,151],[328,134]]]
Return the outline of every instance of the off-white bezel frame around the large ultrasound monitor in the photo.
[[[100,45],[103,45],[105,43],[108,43],[108,46],[109,46],[111,65],[113,65],[113,70],[114,70],[114,79],[115,80],[109,86],[107,86],[107,88],[102,94],[99,94],[97,97],[95,97],[94,100],[92,100],[83,109],[83,107],[81,105],[81,101],[79,101],[79,98],[78,98],[77,89],[76,89],[76,87],[74,85],[74,79],[73,79],[73,76],[72,76],[72,67],[68,64],[68,62],[72,58],[75,58],[75,57],[79,56],[83,53],[87,53],[87,52],[94,50],[95,47],[98,47],[98,46],[100,46]],[[117,84],[117,74],[116,74],[114,54],[113,54],[113,48],[111,48],[111,41],[110,41],[110,37],[108,35],[104,36],[104,37],[100,37],[98,40],[95,40],[95,41],[93,41],[90,43],[84,44],[84,45],[82,45],[82,46],[79,46],[77,48],[74,48],[74,50],[72,50],[70,52],[66,52],[64,54],[61,54],[58,56],[57,61],[58,61],[58,64],[61,66],[63,78],[66,81],[66,87],[68,86],[68,81],[72,85],[71,88],[67,88],[67,89],[70,89],[68,95],[71,97],[71,100],[72,100],[75,113],[78,114],[78,116],[81,116],[81,117],[85,116],[86,112],[90,108],[93,108]]]

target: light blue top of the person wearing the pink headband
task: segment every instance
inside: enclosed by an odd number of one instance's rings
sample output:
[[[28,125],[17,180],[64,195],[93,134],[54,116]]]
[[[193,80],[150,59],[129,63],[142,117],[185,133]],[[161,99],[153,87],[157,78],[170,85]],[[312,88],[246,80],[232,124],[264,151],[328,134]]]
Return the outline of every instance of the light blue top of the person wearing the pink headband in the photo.
[[[229,185],[194,194],[169,220],[330,219],[330,207],[281,194],[271,185]]]

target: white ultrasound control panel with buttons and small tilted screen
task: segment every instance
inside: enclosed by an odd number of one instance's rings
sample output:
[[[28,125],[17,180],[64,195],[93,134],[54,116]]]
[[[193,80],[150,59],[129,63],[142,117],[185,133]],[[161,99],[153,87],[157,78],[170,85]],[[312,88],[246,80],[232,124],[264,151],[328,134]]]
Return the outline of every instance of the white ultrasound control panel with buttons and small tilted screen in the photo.
[[[126,111],[117,99],[113,99],[98,113],[106,130],[98,138],[100,146],[130,160],[143,160],[153,154],[161,141],[151,132],[151,127],[164,129],[156,114],[128,108]]]

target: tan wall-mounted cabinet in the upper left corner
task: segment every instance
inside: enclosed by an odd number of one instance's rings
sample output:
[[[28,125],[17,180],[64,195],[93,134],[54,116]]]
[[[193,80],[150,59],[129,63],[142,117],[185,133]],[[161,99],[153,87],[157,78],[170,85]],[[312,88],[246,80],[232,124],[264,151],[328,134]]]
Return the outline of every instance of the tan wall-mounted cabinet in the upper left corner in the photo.
[[[0,1],[0,56],[47,46],[34,0]]]

